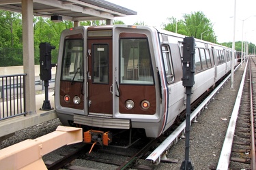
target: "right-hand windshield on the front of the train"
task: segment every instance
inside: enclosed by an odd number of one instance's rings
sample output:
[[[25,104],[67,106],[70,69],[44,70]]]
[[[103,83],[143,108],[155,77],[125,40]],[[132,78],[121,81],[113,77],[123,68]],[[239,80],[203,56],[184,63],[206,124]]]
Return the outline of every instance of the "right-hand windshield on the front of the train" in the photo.
[[[154,84],[147,39],[120,39],[120,61],[120,83]]]

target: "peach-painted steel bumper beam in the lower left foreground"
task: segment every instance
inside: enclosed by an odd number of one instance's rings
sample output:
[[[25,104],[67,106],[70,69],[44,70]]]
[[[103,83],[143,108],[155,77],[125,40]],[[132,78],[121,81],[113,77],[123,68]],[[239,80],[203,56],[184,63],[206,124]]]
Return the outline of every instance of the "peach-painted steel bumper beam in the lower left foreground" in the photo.
[[[42,156],[61,146],[81,141],[81,128],[58,126],[52,133],[0,150],[0,169],[47,169]]]

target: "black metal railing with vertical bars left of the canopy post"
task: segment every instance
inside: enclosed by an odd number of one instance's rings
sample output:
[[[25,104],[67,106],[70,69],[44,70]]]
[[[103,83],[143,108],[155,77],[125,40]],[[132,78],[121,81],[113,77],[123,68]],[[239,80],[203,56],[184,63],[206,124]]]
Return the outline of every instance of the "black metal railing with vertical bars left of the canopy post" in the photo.
[[[0,120],[26,114],[25,75],[0,75]]]

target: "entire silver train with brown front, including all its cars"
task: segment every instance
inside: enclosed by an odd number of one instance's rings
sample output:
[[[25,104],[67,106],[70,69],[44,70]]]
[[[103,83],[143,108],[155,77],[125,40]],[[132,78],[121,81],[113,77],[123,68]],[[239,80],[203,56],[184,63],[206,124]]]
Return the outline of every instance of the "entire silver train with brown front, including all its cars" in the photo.
[[[186,109],[184,35],[147,26],[81,26],[62,31],[55,109],[87,143],[108,145],[122,131],[156,138]],[[191,103],[232,67],[231,48],[195,39]],[[234,65],[237,65],[236,52]]]

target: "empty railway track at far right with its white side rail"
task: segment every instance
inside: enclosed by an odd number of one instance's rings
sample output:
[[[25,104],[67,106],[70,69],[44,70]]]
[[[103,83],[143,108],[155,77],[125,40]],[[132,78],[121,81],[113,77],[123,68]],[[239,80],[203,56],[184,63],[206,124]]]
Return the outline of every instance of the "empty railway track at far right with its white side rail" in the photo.
[[[248,58],[217,169],[256,169],[256,59]]]

